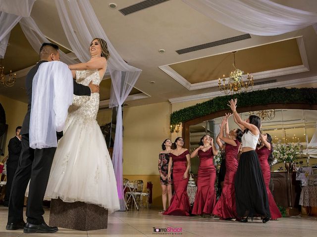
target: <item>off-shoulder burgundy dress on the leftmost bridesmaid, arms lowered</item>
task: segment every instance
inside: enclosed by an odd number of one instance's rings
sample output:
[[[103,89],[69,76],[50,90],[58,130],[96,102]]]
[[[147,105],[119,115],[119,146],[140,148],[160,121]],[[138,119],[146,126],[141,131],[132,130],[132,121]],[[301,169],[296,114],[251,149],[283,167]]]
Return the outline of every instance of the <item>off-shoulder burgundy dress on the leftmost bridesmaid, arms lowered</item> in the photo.
[[[174,195],[171,199],[170,206],[163,215],[173,216],[189,216],[191,212],[190,202],[187,195],[187,179],[183,179],[184,173],[187,168],[186,155],[189,151],[185,151],[179,156],[169,154],[173,158],[173,183],[174,183]]]

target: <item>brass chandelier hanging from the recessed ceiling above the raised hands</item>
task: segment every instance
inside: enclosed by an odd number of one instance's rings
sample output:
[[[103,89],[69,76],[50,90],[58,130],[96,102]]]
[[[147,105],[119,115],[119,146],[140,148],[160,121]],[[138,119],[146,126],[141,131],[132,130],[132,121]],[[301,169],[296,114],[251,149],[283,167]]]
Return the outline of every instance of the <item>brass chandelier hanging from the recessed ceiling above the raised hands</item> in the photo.
[[[235,53],[237,51],[233,51],[233,67],[234,67],[234,71],[230,73],[229,76],[229,81],[226,84],[226,79],[224,78],[223,75],[223,84],[221,85],[220,82],[220,78],[219,78],[219,82],[218,82],[218,87],[219,90],[225,94],[234,94],[234,93],[240,93],[240,92],[247,92],[252,90],[253,88],[253,76],[251,75],[247,75],[247,78],[244,80],[243,77],[244,72],[240,69],[236,68],[236,57],[235,57]]]

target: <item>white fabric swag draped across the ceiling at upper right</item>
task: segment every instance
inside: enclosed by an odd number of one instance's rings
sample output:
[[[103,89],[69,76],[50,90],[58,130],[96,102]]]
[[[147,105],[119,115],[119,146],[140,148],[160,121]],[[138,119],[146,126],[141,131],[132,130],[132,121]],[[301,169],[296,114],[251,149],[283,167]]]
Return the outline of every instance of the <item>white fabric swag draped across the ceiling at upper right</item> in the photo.
[[[257,36],[276,36],[307,26],[317,30],[317,13],[270,0],[183,0],[211,19]]]

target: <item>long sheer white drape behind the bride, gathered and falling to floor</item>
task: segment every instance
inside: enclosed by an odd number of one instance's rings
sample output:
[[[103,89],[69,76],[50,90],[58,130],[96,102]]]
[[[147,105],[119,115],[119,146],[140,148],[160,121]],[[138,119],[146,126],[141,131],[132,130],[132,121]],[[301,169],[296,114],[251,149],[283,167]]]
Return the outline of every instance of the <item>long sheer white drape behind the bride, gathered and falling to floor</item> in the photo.
[[[109,107],[118,107],[112,163],[117,181],[120,208],[124,209],[121,105],[139,78],[141,70],[128,65],[117,53],[88,0],[55,0],[55,4],[67,40],[80,61],[90,60],[89,45],[94,38],[102,38],[107,42],[110,58],[107,62],[106,73],[111,76]]]

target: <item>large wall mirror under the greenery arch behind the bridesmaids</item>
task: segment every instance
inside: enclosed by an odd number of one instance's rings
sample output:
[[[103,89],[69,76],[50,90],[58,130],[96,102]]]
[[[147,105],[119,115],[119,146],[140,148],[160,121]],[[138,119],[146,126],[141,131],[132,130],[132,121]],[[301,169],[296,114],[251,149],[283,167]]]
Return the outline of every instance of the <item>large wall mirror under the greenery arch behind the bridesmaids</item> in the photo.
[[[302,109],[275,109],[275,117],[262,121],[262,129],[264,133],[269,133],[273,139],[273,143],[278,140],[288,142],[301,142],[301,149],[305,150],[307,144],[312,140],[316,131],[317,111],[302,110]],[[240,113],[242,119],[248,118],[250,112]],[[251,112],[252,113],[252,112]],[[256,112],[254,112],[256,114]],[[219,124],[221,117],[207,119],[197,124],[191,124],[186,131],[189,131],[189,149],[194,150],[199,145],[200,138],[204,134],[209,134],[214,140],[219,133]],[[233,118],[229,118],[229,129],[237,128],[237,124]],[[299,165],[316,165],[317,154],[310,156],[303,154],[297,161]],[[191,171],[194,174],[198,172],[199,158],[191,159]],[[281,163],[276,163],[272,166],[272,171],[277,170],[279,166],[284,166]]]

